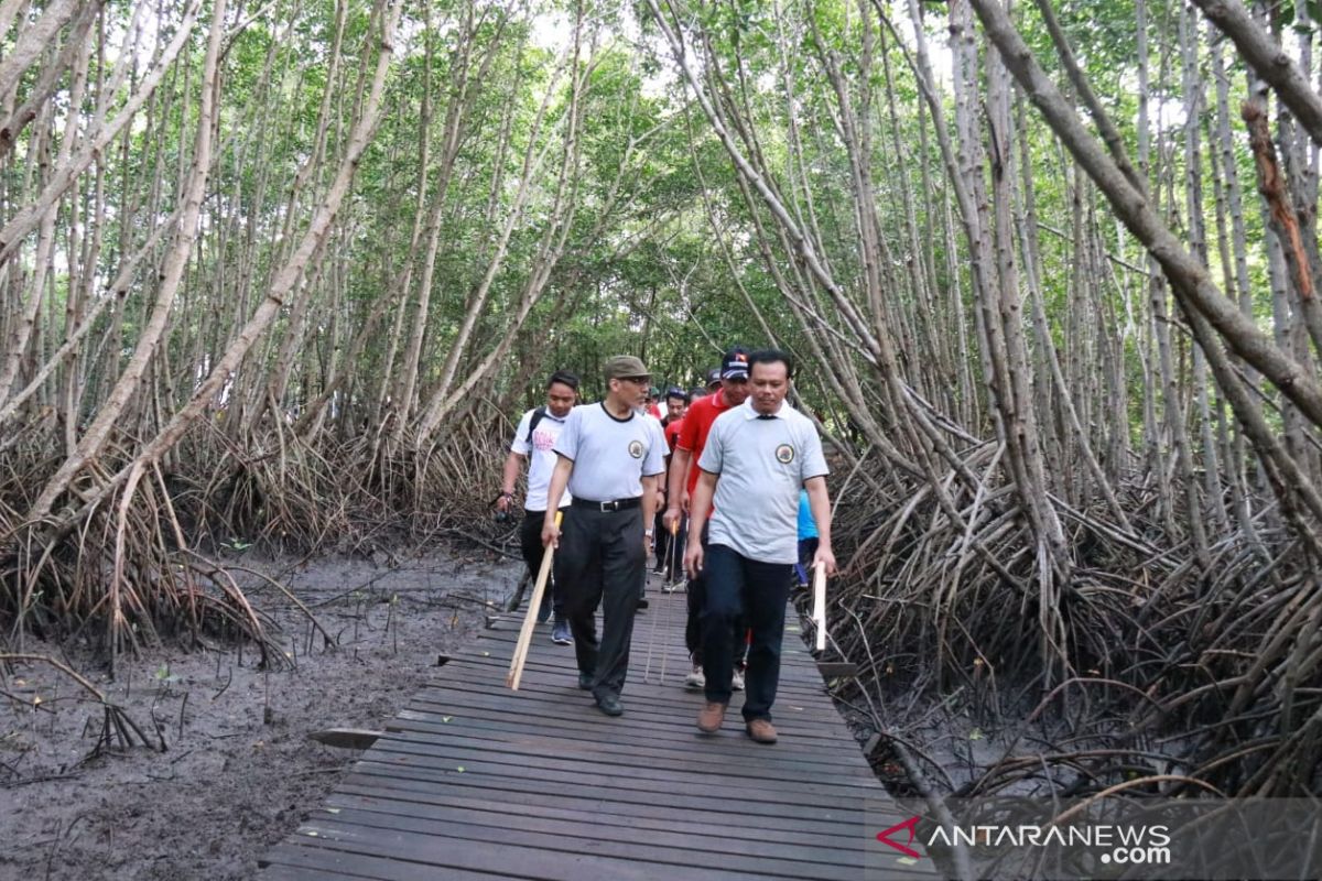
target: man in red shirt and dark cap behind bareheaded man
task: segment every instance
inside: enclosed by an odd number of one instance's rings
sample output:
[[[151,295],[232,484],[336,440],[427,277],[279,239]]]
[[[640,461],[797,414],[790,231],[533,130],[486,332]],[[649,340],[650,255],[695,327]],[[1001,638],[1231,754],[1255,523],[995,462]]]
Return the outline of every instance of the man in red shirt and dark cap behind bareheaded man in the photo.
[[[720,362],[720,391],[715,391],[706,398],[701,398],[689,404],[689,411],[680,424],[680,439],[670,456],[670,474],[668,478],[669,491],[666,494],[666,510],[662,524],[666,530],[674,528],[672,523],[678,523],[689,512],[689,497],[698,485],[698,458],[702,448],[707,442],[707,432],[717,416],[731,407],[738,407],[748,398],[748,351],[743,346],[735,346],[726,353]],[[702,536],[706,546],[707,536]],[[693,671],[685,679],[689,688],[702,688],[705,678],[702,675],[702,622],[699,616],[706,596],[705,576],[701,573],[695,579],[689,579],[689,621],[683,629],[683,641],[689,647],[693,660]],[[736,662],[739,658],[735,659]],[[743,676],[738,667],[735,670],[735,691],[743,688]]]

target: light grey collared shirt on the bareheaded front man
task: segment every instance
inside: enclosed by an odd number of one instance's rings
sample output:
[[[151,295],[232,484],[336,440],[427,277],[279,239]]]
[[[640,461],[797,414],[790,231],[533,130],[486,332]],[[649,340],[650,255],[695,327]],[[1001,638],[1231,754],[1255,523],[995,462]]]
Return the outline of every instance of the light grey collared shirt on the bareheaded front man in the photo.
[[[789,404],[760,416],[750,399],[711,424],[698,466],[719,476],[713,544],[760,563],[798,560],[798,491],[829,472],[812,420]]]

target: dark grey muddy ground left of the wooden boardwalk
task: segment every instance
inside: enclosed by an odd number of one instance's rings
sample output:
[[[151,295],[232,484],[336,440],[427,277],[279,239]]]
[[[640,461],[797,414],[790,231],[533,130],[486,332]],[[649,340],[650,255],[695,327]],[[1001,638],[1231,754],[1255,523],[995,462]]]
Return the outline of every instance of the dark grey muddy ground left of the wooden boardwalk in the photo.
[[[251,877],[358,756],[308,733],[379,729],[518,575],[485,551],[320,560],[292,573],[243,564],[280,576],[340,645],[312,639],[309,654],[307,619],[259,589],[254,602],[283,625],[291,670],[260,670],[251,646],[160,649],[111,682],[77,651],[22,647],[87,674],[164,752],[90,757],[103,717],[94,699],[45,666],[0,670],[0,878]]]

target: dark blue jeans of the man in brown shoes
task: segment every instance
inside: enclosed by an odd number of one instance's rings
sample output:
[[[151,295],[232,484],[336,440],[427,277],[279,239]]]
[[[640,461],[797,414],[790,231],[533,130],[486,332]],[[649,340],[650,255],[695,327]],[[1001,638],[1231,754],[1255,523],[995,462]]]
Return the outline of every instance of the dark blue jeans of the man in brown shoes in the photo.
[[[702,671],[707,700],[730,703],[735,641],[752,631],[744,672],[746,721],[771,719],[780,686],[780,643],[785,638],[789,563],[750,560],[724,544],[707,547],[703,561],[706,601],[702,606]],[[736,634],[735,627],[739,627]]]

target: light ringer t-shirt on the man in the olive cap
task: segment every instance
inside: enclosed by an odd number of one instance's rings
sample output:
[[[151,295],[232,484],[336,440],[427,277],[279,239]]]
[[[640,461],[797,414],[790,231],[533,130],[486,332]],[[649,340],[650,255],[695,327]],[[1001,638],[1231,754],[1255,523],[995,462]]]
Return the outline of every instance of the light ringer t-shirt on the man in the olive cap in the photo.
[[[592,502],[639,498],[641,478],[665,472],[661,423],[637,412],[616,419],[602,403],[570,411],[554,449],[574,461],[570,493]]]

